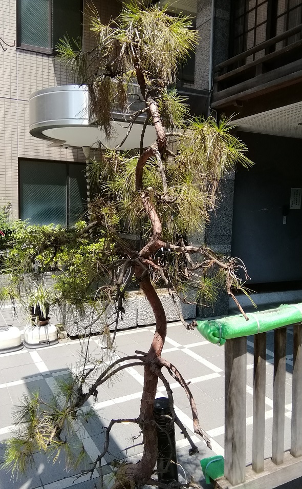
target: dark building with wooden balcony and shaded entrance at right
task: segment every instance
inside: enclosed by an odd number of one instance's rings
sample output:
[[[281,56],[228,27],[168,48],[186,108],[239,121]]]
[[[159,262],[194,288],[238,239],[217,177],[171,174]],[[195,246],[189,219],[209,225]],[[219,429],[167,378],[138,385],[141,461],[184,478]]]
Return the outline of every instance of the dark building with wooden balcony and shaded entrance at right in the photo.
[[[231,253],[268,303],[301,300],[302,2],[216,6],[211,108],[233,116],[255,162],[235,175]]]

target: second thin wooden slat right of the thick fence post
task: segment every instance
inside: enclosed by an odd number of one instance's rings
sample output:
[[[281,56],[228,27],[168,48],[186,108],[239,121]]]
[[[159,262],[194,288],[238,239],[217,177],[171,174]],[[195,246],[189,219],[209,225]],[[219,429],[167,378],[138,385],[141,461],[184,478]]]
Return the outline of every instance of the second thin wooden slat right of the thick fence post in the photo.
[[[285,421],[285,373],[286,373],[286,328],[274,333],[274,398],[272,461],[279,465],[284,460]]]

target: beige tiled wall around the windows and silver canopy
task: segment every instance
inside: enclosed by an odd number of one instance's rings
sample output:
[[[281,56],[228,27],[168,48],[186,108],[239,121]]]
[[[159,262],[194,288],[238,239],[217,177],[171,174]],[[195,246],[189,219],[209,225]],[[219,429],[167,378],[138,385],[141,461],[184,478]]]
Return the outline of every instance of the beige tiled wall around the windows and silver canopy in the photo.
[[[90,0],[84,0],[84,11]],[[2,0],[0,33],[8,44],[16,40],[16,0]],[[120,9],[116,0],[94,1],[103,22]],[[84,49],[93,46],[93,35],[84,22]],[[72,80],[66,69],[48,54],[20,48],[0,48],[0,206],[12,204],[18,217],[18,158],[84,162],[82,150],[49,148],[47,141],[28,131],[28,99],[31,93],[51,86],[68,85]]]

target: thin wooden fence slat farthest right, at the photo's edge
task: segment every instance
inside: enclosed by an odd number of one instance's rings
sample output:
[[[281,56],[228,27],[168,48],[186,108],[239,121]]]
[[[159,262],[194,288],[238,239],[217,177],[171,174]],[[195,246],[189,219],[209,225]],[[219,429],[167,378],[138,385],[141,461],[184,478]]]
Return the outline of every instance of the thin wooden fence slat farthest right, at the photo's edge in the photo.
[[[293,457],[302,455],[302,327],[294,325],[291,449]]]

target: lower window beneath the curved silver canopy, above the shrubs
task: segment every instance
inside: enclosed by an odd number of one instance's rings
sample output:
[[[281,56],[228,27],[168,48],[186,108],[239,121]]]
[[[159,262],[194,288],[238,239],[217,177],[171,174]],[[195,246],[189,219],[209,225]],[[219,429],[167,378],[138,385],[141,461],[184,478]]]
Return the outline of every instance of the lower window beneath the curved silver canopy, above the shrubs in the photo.
[[[31,224],[73,226],[87,207],[85,166],[20,160],[19,207]]]

